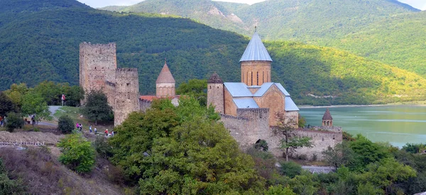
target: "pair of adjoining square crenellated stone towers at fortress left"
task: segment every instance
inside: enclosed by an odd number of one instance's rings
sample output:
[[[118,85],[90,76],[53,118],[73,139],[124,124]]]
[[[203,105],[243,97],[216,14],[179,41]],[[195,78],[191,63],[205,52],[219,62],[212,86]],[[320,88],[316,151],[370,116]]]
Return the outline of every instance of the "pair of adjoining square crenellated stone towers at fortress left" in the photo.
[[[116,44],[80,44],[80,86],[88,94],[101,90],[114,110],[114,126],[139,110],[138,70],[117,69]],[[84,100],[81,102],[84,104]]]

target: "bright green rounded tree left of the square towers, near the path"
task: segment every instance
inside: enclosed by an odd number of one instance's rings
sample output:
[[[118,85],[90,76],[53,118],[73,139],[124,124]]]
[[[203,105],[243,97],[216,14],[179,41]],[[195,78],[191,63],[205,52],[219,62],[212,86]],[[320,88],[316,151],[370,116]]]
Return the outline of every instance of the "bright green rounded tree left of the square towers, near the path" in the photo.
[[[22,113],[24,115],[35,115],[35,121],[52,120],[49,106],[43,97],[34,91],[28,91],[22,99]]]

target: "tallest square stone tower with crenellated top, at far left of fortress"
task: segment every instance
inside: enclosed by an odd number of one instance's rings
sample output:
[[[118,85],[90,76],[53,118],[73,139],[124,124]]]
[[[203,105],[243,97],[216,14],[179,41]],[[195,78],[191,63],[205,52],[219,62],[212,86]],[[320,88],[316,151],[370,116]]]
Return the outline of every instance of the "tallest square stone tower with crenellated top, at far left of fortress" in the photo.
[[[80,44],[80,86],[86,94],[92,90],[103,90],[105,81],[114,82],[116,68],[115,43]]]

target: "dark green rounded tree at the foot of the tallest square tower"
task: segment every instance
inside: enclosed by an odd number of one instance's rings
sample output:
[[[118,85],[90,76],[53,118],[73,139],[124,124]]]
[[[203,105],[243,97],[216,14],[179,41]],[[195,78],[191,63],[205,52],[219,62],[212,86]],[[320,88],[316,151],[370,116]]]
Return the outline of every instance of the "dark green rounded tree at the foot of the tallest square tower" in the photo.
[[[84,117],[94,120],[95,126],[97,126],[98,120],[112,115],[112,108],[108,104],[107,95],[102,91],[90,91],[81,111]]]

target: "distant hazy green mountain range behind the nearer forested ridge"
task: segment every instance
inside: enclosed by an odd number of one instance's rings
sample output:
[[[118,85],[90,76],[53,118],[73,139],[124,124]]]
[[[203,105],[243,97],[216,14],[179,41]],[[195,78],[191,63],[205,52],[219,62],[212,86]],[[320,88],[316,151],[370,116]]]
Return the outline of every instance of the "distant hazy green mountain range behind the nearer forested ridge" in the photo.
[[[349,50],[426,76],[421,55],[426,52],[426,13],[396,0],[268,0],[251,6],[196,2],[146,0],[114,11],[173,14],[244,35],[251,35],[258,26],[269,40]],[[231,16],[239,20],[229,20]]]

